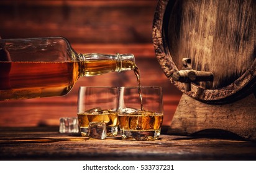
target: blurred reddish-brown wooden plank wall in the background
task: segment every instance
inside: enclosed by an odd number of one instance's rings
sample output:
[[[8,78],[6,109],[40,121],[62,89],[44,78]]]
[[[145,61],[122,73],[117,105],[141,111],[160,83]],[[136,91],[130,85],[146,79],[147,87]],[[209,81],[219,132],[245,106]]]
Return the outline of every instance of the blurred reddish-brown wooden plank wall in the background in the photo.
[[[143,86],[162,86],[164,123],[170,125],[180,91],[160,69],[152,44],[157,0],[0,1],[0,36],[64,36],[78,53],[133,53]],[[79,86],[136,86],[133,72],[80,78],[66,96],[0,101],[1,127],[58,125],[76,116]]]

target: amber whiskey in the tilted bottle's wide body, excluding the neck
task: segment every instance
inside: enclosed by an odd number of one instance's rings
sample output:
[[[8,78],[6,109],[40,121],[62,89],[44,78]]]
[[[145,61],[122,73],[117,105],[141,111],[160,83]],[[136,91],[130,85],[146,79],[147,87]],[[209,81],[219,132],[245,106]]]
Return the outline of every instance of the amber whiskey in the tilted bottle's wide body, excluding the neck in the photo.
[[[65,95],[77,69],[76,62],[0,62],[0,100]]]

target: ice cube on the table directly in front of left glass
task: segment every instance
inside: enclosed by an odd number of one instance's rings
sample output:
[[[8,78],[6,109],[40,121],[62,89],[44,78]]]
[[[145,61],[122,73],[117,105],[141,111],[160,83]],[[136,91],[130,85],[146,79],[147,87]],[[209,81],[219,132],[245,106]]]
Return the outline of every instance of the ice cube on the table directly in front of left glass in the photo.
[[[107,127],[104,122],[89,122],[88,136],[90,139],[101,139],[107,137]]]

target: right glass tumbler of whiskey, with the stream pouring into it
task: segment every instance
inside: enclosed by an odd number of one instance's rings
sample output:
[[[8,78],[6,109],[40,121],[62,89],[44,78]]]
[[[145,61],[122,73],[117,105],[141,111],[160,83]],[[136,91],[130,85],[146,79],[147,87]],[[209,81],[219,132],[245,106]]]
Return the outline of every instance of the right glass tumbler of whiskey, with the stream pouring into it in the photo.
[[[158,140],[163,122],[162,88],[119,88],[118,120],[122,139]]]

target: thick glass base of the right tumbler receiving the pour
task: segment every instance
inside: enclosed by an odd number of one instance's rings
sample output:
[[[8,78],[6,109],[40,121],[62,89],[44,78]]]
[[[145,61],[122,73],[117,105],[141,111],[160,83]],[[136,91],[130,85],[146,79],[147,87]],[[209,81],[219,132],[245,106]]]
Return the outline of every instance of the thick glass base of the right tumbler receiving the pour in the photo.
[[[161,129],[158,130],[121,130],[122,139],[127,140],[158,140]]]

